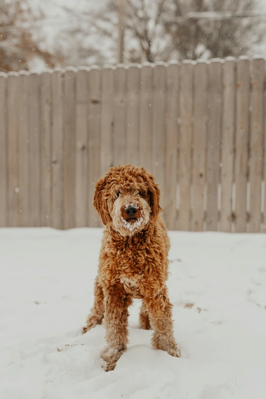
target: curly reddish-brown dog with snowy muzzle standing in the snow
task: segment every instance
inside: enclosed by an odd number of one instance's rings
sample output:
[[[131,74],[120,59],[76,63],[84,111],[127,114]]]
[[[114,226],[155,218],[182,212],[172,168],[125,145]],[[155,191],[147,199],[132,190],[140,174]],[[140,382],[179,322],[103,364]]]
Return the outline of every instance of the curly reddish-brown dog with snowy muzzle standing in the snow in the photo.
[[[179,357],[166,280],[170,241],[159,216],[154,176],[130,165],[111,168],[96,183],[94,207],[104,223],[94,306],[84,332],[104,317],[104,369],[113,370],[128,342],[128,307],[142,299],[140,325],[153,329],[152,347]]]

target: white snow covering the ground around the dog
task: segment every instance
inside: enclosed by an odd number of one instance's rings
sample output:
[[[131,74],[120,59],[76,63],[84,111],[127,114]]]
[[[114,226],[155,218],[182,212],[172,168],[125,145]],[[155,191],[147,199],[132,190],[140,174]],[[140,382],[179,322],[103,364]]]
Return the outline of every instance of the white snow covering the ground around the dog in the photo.
[[[105,373],[103,326],[81,334],[101,234],[0,230],[0,397],[264,399],[266,236],[170,232],[181,358],[151,349],[137,301],[128,350]]]

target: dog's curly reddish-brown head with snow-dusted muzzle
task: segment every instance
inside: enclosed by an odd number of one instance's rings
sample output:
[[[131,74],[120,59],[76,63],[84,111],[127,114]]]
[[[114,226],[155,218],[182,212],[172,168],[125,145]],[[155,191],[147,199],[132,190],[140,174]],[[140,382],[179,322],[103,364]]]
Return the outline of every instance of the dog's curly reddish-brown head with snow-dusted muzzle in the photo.
[[[96,183],[93,205],[104,225],[134,235],[157,219],[160,191],[154,176],[130,165],[111,168]]]

